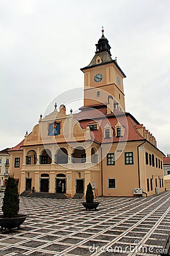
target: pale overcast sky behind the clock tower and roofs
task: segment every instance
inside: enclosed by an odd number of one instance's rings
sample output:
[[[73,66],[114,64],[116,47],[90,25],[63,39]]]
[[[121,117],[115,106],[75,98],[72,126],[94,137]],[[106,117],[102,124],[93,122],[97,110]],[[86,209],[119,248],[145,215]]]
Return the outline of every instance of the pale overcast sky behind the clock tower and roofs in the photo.
[[[80,68],[104,26],[126,75],[126,112],[170,153],[169,11],[169,0],[0,0],[0,150],[22,141],[56,97],[83,86]]]

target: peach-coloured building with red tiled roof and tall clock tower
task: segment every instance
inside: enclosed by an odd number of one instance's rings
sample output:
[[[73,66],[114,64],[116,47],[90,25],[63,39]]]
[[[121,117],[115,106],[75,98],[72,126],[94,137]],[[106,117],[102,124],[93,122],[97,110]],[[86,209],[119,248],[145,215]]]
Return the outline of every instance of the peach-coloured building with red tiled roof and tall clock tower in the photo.
[[[22,195],[83,197],[91,183],[96,196],[150,196],[165,190],[163,152],[156,139],[125,112],[123,80],[102,35],[84,73],[84,104],[66,114],[64,104],[8,150],[10,173]],[[71,101],[71,96],[70,96]],[[35,193],[31,193],[31,188]]]

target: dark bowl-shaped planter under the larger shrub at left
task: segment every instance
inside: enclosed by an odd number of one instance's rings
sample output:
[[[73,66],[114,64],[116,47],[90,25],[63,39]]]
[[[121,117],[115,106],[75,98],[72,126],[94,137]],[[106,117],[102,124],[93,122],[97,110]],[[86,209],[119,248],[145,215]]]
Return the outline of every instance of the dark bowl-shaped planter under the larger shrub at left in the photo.
[[[4,218],[3,215],[0,215],[0,226],[1,229],[6,228],[6,229],[14,229],[18,228],[19,226],[23,224],[25,221],[25,218],[27,218],[28,215],[24,214],[18,214],[17,217],[14,218]]]

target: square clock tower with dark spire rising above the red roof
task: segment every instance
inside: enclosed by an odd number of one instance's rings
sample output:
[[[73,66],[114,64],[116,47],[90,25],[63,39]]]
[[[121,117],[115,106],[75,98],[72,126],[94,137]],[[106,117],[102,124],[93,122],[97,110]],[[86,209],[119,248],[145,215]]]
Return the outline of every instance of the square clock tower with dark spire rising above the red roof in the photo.
[[[123,79],[126,76],[117,60],[111,57],[111,46],[103,28],[101,32],[95,56],[87,67],[81,68],[84,73],[84,106],[108,105],[112,97],[115,108],[125,111]]]

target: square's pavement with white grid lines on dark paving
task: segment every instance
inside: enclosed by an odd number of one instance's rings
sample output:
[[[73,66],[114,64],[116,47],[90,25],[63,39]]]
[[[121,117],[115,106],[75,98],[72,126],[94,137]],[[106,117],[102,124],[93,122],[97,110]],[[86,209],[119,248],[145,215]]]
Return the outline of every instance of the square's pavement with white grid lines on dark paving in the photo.
[[[170,232],[169,196],[99,197],[96,211],[83,200],[20,197],[20,213],[29,217],[20,230],[0,233],[0,255],[160,255]]]

